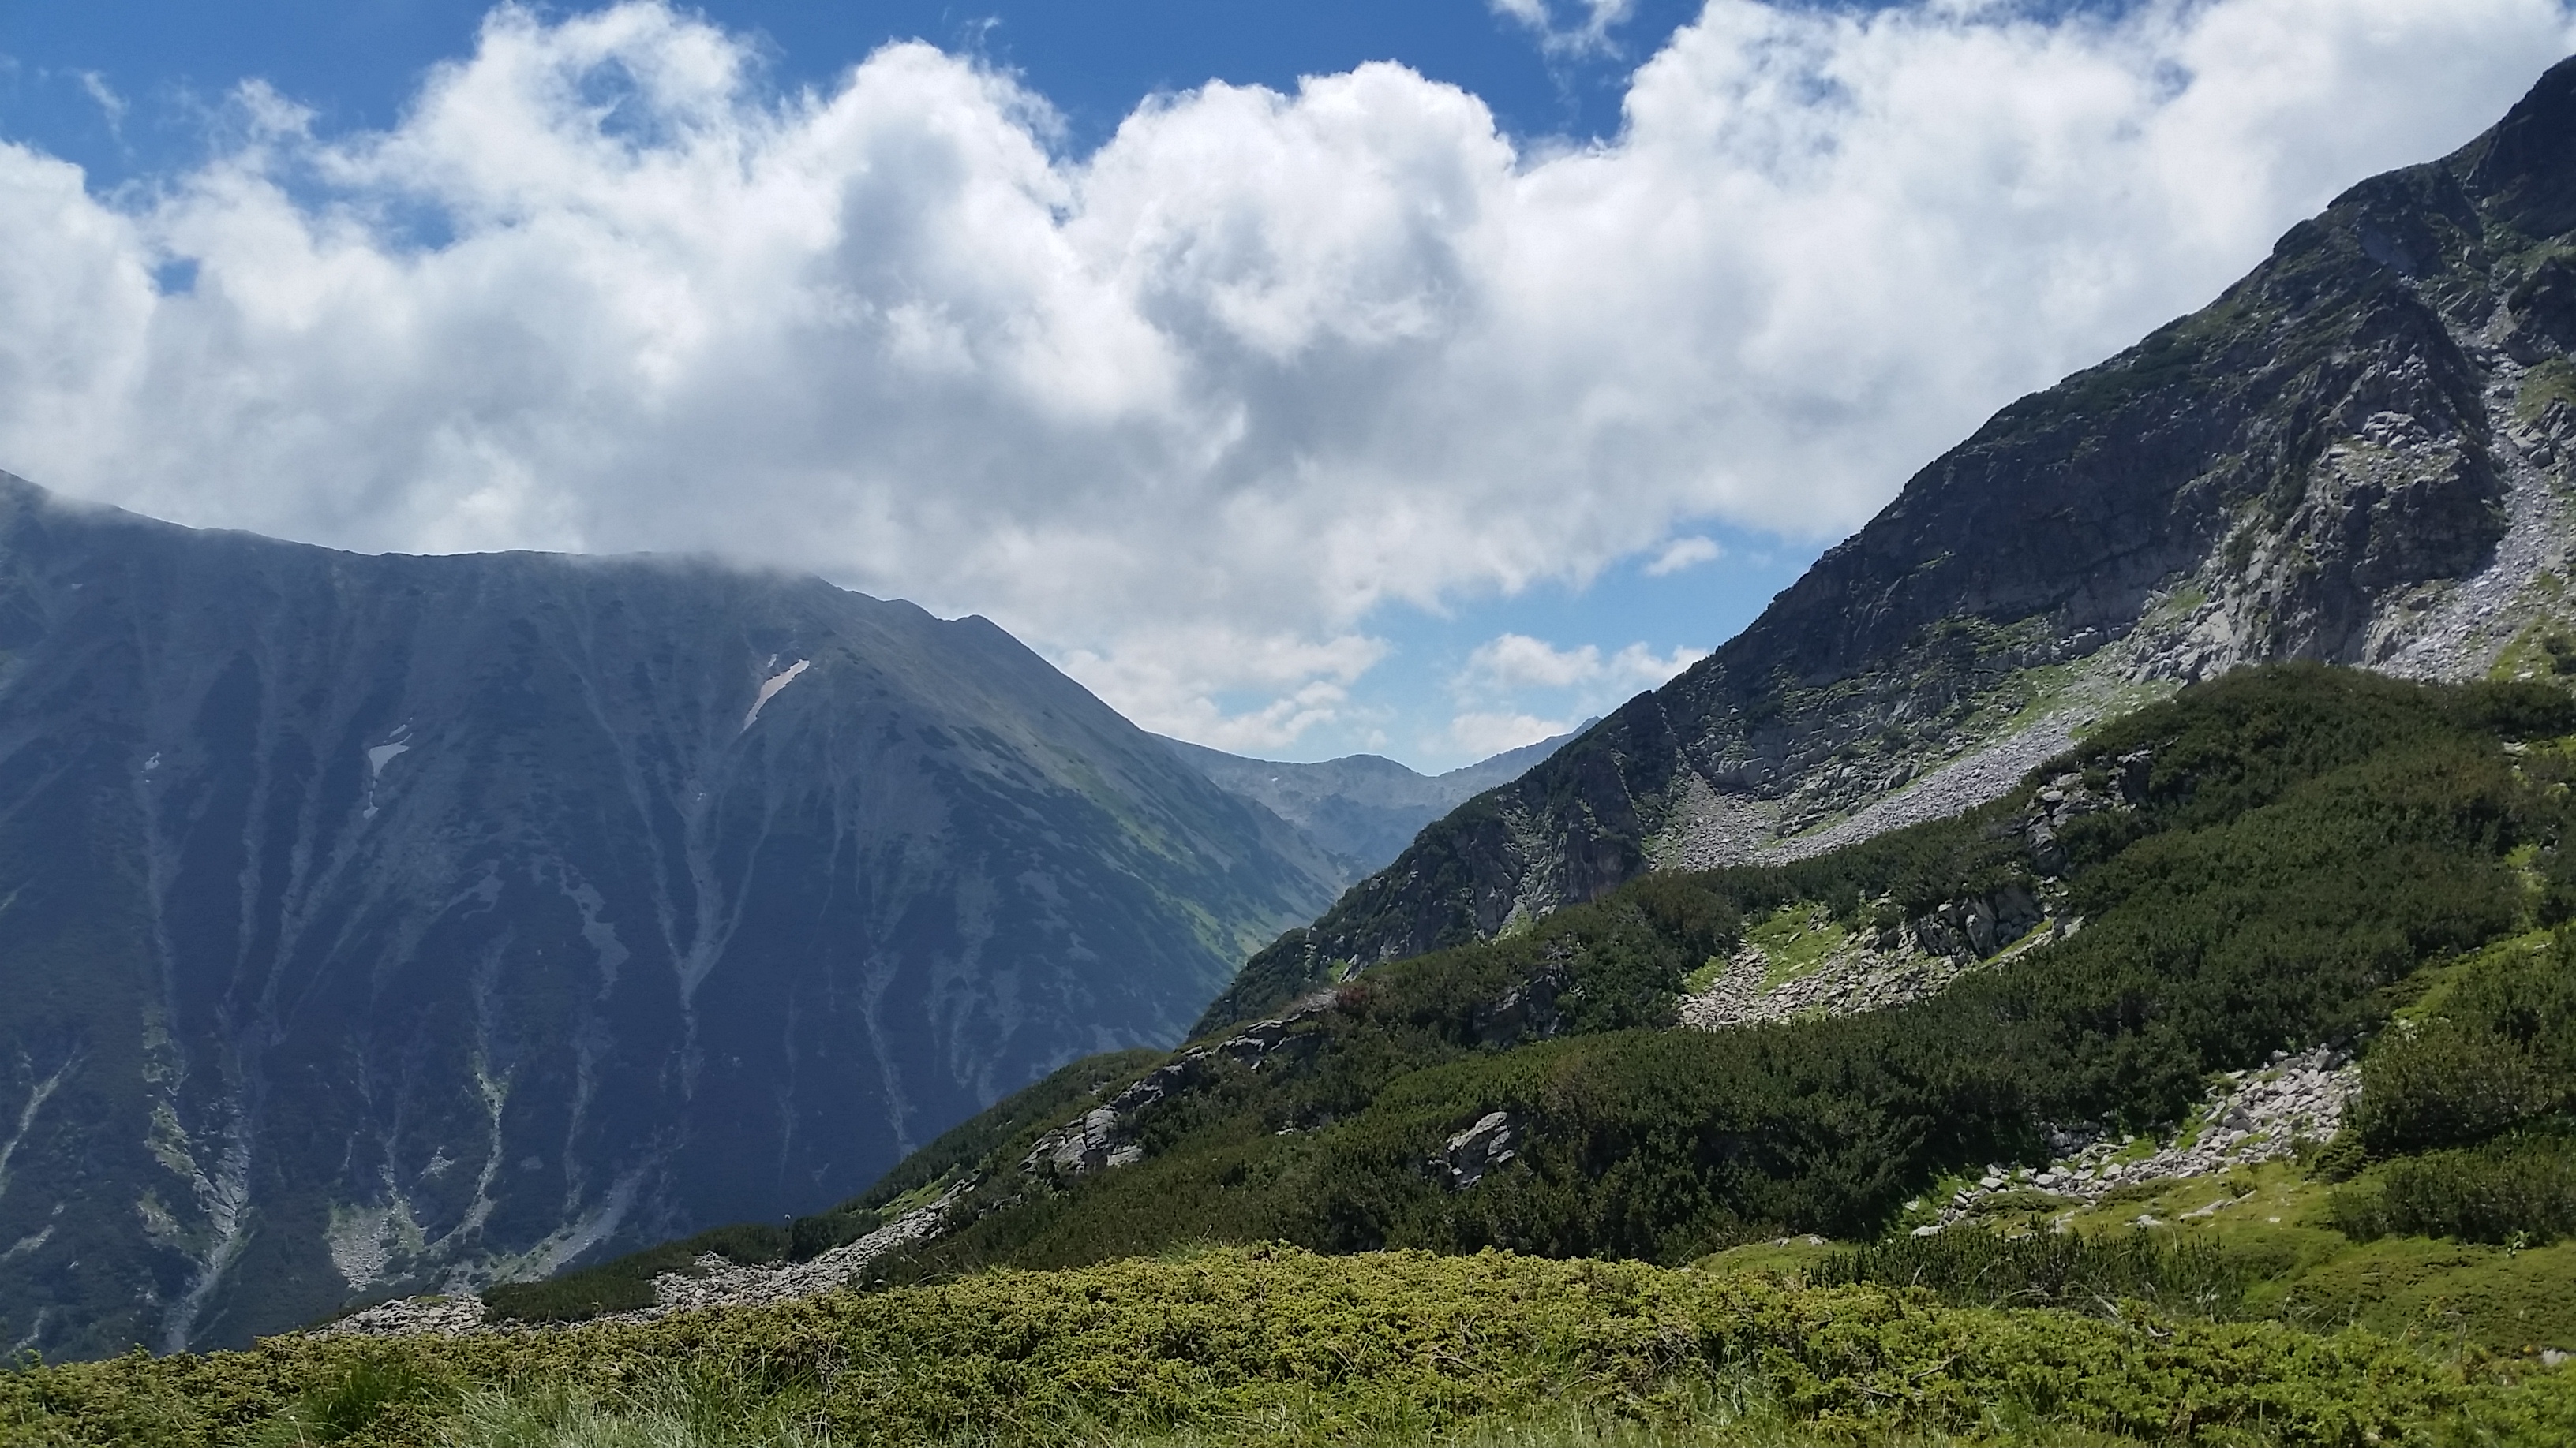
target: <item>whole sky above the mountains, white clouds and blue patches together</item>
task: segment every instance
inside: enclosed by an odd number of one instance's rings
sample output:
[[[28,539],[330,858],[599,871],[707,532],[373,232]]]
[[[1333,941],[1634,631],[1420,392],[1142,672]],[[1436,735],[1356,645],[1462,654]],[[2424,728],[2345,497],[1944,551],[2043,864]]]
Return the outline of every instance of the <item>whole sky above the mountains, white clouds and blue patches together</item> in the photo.
[[[1687,665],[2571,36],[0,0],[0,469],[355,549],[711,546],[987,613],[1146,727],[1448,768]]]

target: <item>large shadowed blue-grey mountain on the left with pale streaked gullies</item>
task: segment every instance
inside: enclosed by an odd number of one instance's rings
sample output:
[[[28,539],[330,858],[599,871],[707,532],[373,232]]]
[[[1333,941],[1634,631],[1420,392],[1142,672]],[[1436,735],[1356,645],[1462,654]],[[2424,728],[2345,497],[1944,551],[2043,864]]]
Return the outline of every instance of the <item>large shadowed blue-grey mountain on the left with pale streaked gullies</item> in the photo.
[[[1332,866],[981,618],[0,474],[0,1317],[245,1342],[814,1211]]]

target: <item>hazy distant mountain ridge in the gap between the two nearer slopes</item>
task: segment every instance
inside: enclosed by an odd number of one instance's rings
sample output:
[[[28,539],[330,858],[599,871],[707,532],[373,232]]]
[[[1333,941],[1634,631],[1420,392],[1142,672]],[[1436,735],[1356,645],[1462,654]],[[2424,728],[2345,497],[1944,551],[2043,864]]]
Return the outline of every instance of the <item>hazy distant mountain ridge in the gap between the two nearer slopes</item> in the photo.
[[[1584,721],[1589,729],[1595,721]],[[1579,734],[1582,729],[1574,729]],[[1247,760],[1185,739],[1164,739],[1190,768],[1296,824],[1319,850],[1342,861],[1347,876],[1370,876],[1414,843],[1425,824],[1468,799],[1512,783],[1574,734],[1504,750],[1448,773],[1414,773],[1381,755],[1345,755],[1321,763]]]

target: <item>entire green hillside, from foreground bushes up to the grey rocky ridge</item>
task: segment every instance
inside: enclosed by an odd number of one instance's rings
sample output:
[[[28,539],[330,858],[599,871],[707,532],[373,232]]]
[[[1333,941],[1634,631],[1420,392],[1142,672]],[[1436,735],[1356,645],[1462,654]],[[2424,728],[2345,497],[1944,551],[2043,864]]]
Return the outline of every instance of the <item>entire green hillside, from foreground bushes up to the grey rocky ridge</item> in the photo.
[[[464,1337],[23,1368],[0,1425],[2576,1440],[2571,781],[2553,688],[2236,672],[1963,819],[1646,876],[1172,1056],[1082,1062],[832,1214],[495,1291]],[[1924,940],[1958,974],[1899,1005],[1674,1025],[1741,951],[1785,989]],[[2344,1059],[2336,1131],[2267,1139],[2228,1105]],[[1097,1152],[1066,1149],[1084,1129]],[[582,1322],[920,1211],[927,1239],[855,1288]]]

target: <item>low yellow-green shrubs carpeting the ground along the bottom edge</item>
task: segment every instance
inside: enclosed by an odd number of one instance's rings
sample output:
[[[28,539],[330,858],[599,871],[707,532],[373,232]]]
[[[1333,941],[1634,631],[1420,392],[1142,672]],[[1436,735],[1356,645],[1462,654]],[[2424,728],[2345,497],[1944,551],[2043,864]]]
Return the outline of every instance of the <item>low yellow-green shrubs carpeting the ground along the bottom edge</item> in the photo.
[[[296,1417],[355,1363],[376,1373],[361,1409],[327,1430]],[[698,1386],[672,1399],[675,1378]],[[1927,1291],[1613,1262],[1244,1247],[644,1327],[276,1337],[250,1353],[18,1368],[0,1373],[0,1440],[752,1443],[716,1427],[760,1425],[757,1440],[842,1448],[1419,1443],[1540,1412],[1654,1420],[1718,1384],[1801,1433],[1870,1443],[2009,1422],[2334,1448],[2576,1435],[2576,1373],[2367,1332],[1945,1306]],[[629,1435],[629,1422],[657,1433]]]

